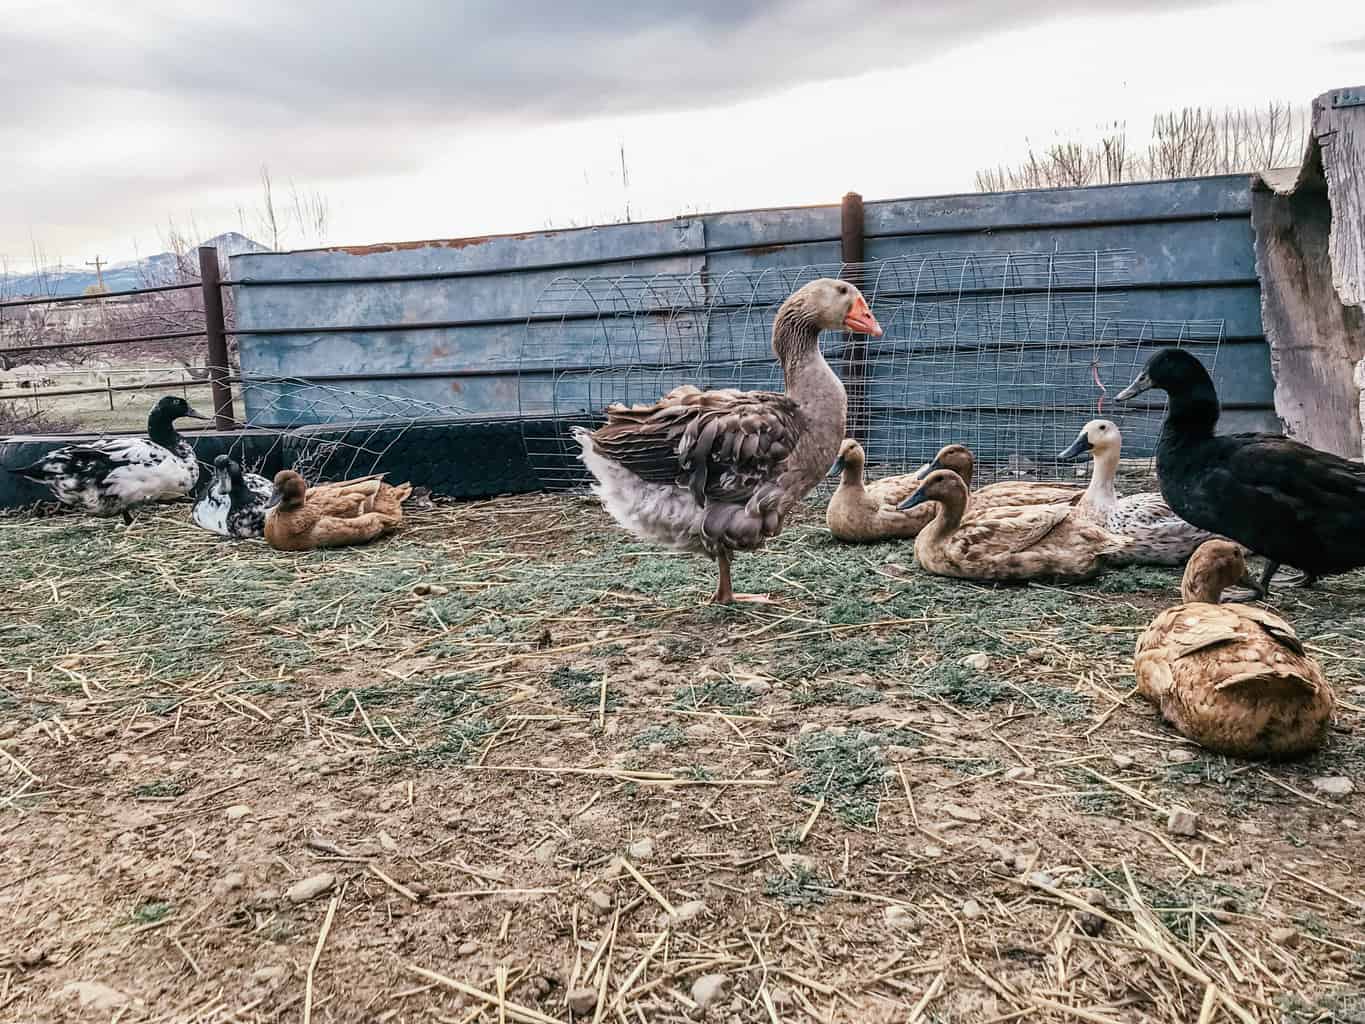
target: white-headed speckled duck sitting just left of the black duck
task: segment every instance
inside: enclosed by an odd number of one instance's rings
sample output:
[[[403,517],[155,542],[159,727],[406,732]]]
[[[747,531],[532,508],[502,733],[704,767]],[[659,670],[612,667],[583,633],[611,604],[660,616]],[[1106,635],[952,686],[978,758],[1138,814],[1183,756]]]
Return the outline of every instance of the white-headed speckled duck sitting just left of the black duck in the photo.
[[[1213,534],[1186,523],[1155,492],[1118,497],[1114,477],[1122,449],[1123,434],[1118,425],[1111,419],[1092,419],[1081,427],[1072,446],[1057,456],[1061,461],[1087,455],[1095,460],[1091,485],[1076,502],[1076,515],[1129,538],[1133,542],[1129,557],[1134,564],[1182,565]]]

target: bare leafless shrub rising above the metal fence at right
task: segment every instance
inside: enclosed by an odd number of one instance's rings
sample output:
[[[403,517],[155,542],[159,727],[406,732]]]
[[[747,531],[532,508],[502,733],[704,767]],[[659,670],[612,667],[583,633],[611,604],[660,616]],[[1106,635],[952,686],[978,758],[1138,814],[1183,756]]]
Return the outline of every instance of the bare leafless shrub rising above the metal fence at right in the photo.
[[[1290,104],[1222,112],[1186,106],[1156,115],[1140,153],[1129,149],[1122,123],[1106,126],[1095,142],[1063,139],[1041,152],[1025,139],[1024,160],[977,171],[976,187],[994,193],[1263,171],[1295,162],[1308,130],[1308,111]]]

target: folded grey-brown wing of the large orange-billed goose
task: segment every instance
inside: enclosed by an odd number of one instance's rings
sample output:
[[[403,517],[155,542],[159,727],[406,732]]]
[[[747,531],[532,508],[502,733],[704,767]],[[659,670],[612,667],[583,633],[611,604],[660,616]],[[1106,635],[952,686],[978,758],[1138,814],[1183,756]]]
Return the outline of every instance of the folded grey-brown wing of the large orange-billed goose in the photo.
[[[609,406],[592,434],[606,459],[651,483],[677,483],[699,505],[748,500],[775,481],[804,429],[775,392],[676,388],[652,406]]]

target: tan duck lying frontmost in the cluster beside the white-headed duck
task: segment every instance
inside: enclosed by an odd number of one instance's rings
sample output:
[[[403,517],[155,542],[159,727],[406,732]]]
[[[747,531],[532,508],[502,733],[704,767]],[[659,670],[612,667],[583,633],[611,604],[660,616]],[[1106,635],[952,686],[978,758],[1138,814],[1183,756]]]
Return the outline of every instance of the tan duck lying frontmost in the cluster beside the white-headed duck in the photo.
[[[1127,561],[1132,541],[1080,519],[1069,504],[1010,505],[968,512],[966,481],[934,470],[901,502],[938,502],[915,538],[915,560],[936,576],[1021,583],[1087,580]]]

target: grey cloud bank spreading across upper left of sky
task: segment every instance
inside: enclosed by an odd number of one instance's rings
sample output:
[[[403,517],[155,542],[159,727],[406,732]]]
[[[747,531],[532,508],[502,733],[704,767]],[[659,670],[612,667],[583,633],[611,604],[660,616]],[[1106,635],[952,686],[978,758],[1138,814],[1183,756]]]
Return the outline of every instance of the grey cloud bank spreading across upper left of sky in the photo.
[[[1186,5],[1054,0],[1046,16]],[[7,205],[22,223],[0,213],[11,220],[0,220],[0,251],[111,203],[127,221],[195,190],[248,193],[266,161],[304,179],[393,173],[471,126],[723,104],[924,61],[1043,16],[1017,0],[101,7],[71,4],[61,25],[34,4],[0,23],[7,134],[34,143],[11,147],[5,184],[20,202]],[[130,131],[147,134],[158,158],[128,167],[121,146],[79,145],[109,119],[136,122]],[[818,124],[808,130],[818,138]]]

